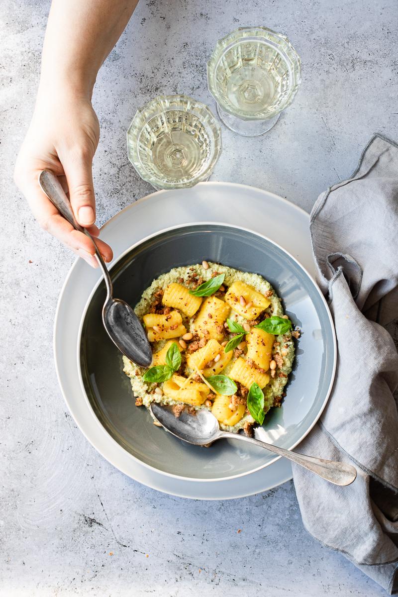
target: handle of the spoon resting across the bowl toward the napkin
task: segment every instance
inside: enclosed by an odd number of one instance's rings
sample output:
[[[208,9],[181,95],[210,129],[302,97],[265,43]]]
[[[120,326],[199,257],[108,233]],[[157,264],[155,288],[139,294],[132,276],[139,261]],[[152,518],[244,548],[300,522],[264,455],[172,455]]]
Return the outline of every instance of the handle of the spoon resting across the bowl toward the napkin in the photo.
[[[326,481],[334,483],[335,485],[350,485],[350,483],[355,481],[357,476],[356,469],[351,466],[351,464],[344,464],[343,462],[336,462],[334,460],[325,460],[324,458],[315,458],[314,456],[306,456],[306,454],[298,454],[297,452],[285,450],[285,448],[279,448],[273,444],[261,442],[259,439],[249,438],[246,435],[240,435],[240,433],[221,431],[219,437],[240,439],[242,441],[250,442],[251,444],[260,446],[261,448],[266,448],[266,450],[269,450],[270,452],[274,452],[275,454],[279,454],[279,456],[288,458],[288,460],[291,460],[296,464],[300,464],[300,466],[303,466],[304,469],[310,470],[312,473],[315,473],[316,475],[326,479]]]

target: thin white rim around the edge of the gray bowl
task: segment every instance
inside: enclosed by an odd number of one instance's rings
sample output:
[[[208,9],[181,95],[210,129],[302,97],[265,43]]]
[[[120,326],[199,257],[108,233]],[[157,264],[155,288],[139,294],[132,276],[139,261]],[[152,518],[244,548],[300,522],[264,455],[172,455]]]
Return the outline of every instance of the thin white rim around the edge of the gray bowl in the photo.
[[[244,185],[242,185],[242,186],[244,186]],[[277,242],[272,241],[267,236],[262,235],[262,234],[260,234],[258,232],[255,232],[254,230],[251,230],[249,228],[245,228],[243,226],[236,226],[234,224],[228,224],[228,223],[224,223],[224,222],[200,221],[200,222],[195,222],[195,223],[178,224],[177,226],[169,226],[167,228],[163,228],[162,230],[158,230],[157,232],[155,232],[155,233],[153,233],[151,235],[148,235],[148,236],[142,238],[140,241],[134,243],[133,245],[131,245],[131,247],[129,247],[128,249],[126,249],[125,251],[123,251],[123,253],[121,253],[119,255],[119,257],[115,260],[115,262],[112,264],[112,267],[115,266],[116,263],[118,263],[121,259],[123,259],[123,257],[125,257],[130,251],[134,250],[135,248],[139,247],[141,244],[143,244],[146,241],[149,241],[150,239],[154,238],[155,236],[159,236],[159,235],[161,235],[161,234],[163,234],[165,232],[170,232],[171,230],[178,230],[180,228],[187,228],[187,227],[192,227],[192,226],[225,226],[227,228],[231,228],[231,229],[235,229],[235,230],[244,230],[245,232],[249,232],[251,234],[254,234],[255,236],[259,236],[260,238],[262,238],[262,239],[270,242],[271,244],[273,244],[274,246],[276,246],[277,248],[279,248],[281,251],[283,251],[283,253],[285,253],[286,255],[288,255],[293,261],[295,261],[295,263],[298,264],[298,266],[303,270],[303,272],[308,276],[308,278],[313,283],[314,288],[316,289],[317,293],[319,294],[319,296],[320,296],[320,298],[321,298],[321,300],[322,300],[322,302],[323,302],[323,304],[324,304],[324,306],[326,308],[326,313],[328,314],[329,322],[331,324],[332,340],[333,340],[333,370],[332,370],[331,381],[329,383],[329,387],[328,387],[328,390],[326,392],[325,399],[323,400],[322,406],[320,407],[319,413],[314,418],[314,420],[311,423],[310,427],[308,427],[308,429],[306,430],[306,432],[304,432],[303,435],[301,435],[301,437],[298,439],[297,442],[295,442],[293,445],[291,445],[291,447],[287,448],[289,451],[294,450],[294,448],[297,447],[297,445],[300,444],[300,442],[303,441],[303,439],[308,435],[308,433],[311,431],[311,429],[313,429],[313,427],[316,424],[317,420],[321,416],[321,414],[323,412],[323,409],[325,408],[325,406],[326,406],[326,404],[328,402],[329,396],[330,396],[331,391],[332,391],[333,383],[334,383],[335,372],[336,372],[336,367],[337,367],[337,341],[336,341],[334,323],[333,323],[331,312],[330,312],[329,307],[328,307],[328,303],[326,303],[325,297],[323,296],[322,291],[320,290],[320,288],[316,284],[316,281],[314,280],[313,276],[311,276],[311,274],[307,271],[307,269],[303,265],[301,265],[300,261],[298,261],[297,259],[295,259],[295,257],[293,257],[291,255],[291,253],[289,253],[288,251],[286,251],[286,249],[284,249],[279,244],[277,244]],[[100,427],[104,430],[104,432],[107,433],[107,435],[109,436],[109,438],[112,440],[112,442],[114,444],[116,444],[119,448],[121,448],[122,450],[124,450],[125,453],[127,453],[129,457],[133,458],[135,461],[137,461],[138,463],[142,464],[147,469],[153,470],[156,473],[168,476],[168,477],[173,478],[173,479],[185,480],[185,481],[189,481],[189,482],[214,483],[214,482],[218,482],[218,481],[229,481],[229,480],[232,480],[232,479],[237,479],[237,478],[240,478],[240,477],[244,477],[246,475],[251,475],[251,473],[255,473],[258,470],[265,469],[267,466],[270,466],[270,464],[273,464],[274,462],[276,462],[276,460],[279,460],[279,458],[282,458],[282,456],[276,456],[274,458],[271,458],[271,460],[269,462],[267,462],[266,464],[261,464],[260,466],[254,468],[252,470],[248,470],[245,473],[239,473],[237,475],[230,475],[230,476],[223,476],[223,477],[215,477],[215,478],[212,478],[212,479],[202,479],[202,478],[197,478],[197,477],[188,477],[188,476],[184,476],[184,475],[175,475],[174,473],[168,473],[168,472],[166,472],[164,470],[156,468],[155,466],[152,466],[152,464],[147,464],[143,460],[140,460],[140,458],[137,458],[137,456],[134,456],[134,454],[131,454],[128,450],[125,450],[125,448],[121,444],[119,444],[119,442],[117,442],[116,439],[112,437],[112,435],[110,435],[110,433],[103,426],[103,424],[100,423],[100,421],[98,420],[98,417],[95,415],[94,410],[91,407],[90,400],[88,399],[88,396],[87,396],[87,393],[86,393],[86,390],[85,390],[85,387],[84,387],[83,378],[82,378],[81,359],[80,359],[80,346],[81,346],[82,328],[83,328],[83,324],[84,324],[84,321],[85,321],[85,316],[87,315],[87,310],[88,310],[88,307],[89,307],[89,305],[91,303],[92,297],[94,296],[95,291],[97,290],[97,288],[99,287],[99,285],[102,283],[102,281],[103,281],[103,278],[101,276],[101,278],[97,281],[97,284],[94,285],[94,288],[92,289],[92,291],[90,293],[90,296],[88,297],[87,302],[85,304],[85,307],[84,307],[84,310],[83,310],[83,313],[82,313],[82,316],[81,316],[80,324],[79,324],[79,330],[78,330],[78,341],[77,341],[77,346],[76,346],[76,359],[77,359],[77,364],[78,364],[79,384],[80,384],[81,390],[82,390],[82,392],[84,394],[85,402],[88,405],[88,408],[89,408],[89,410],[91,412],[92,417],[95,419],[95,421],[97,422],[97,424],[100,425]],[[65,281],[65,283],[66,283],[66,281]],[[65,400],[66,400],[66,397],[65,397]],[[66,403],[67,403],[67,401],[66,401]],[[68,407],[69,407],[69,405],[68,405]],[[97,450],[97,448],[95,448],[95,449]],[[118,468],[117,465],[115,465],[115,466],[116,466],[116,468]]]

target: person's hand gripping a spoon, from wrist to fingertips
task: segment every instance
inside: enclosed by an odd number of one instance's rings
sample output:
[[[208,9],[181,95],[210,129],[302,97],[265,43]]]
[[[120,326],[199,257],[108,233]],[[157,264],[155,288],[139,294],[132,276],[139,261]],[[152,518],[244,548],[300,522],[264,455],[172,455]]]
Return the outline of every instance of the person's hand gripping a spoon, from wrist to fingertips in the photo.
[[[14,180],[40,226],[93,267],[98,266],[94,242],[61,216],[42,192],[38,177],[42,170],[51,170],[60,177],[76,220],[92,236],[98,236],[91,168],[99,136],[97,115],[87,97],[68,91],[56,95],[39,91],[14,172]],[[100,239],[95,243],[104,260],[111,261],[109,245]]]

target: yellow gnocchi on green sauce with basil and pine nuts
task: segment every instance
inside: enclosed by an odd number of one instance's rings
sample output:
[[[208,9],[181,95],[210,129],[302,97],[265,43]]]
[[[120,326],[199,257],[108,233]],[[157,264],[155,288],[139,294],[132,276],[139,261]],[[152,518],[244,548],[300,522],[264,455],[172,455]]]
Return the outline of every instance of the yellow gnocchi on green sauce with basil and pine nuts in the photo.
[[[246,430],[254,423],[246,402],[254,382],[263,390],[264,413],[282,401],[294,341],[290,331],[277,337],[255,327],[255,319],[283,316],[264,278],[203,263],[174,268],[144,291],[135,312],[152,344],[153,370],[147,376],[123,357],[124,372],[137,405],[162,402],[177,416],[184,405],[207,408],[221,429]],[[212,278],[217,282],[201,290]]]

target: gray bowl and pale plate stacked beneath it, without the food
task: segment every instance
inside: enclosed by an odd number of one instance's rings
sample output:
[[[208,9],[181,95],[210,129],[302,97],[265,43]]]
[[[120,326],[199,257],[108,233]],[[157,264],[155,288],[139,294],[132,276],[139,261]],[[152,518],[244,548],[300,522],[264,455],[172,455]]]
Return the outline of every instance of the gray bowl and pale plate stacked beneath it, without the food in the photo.
[[[303,334],[282,408],[256,433],[294,448],[322,413],[336,362],[332,319],[310,275],[308,214],[259,189],[200,183],[141,199],[113,217],[101,238],[115,253],[115,296],[132,305],[153,278],[203,259],[269,280]],[[261,448],[233,440],[193,447],[154,426],[135,407],[121,354],[103,330],[103,299],[98,270],[76,261],[61,291],[54,337],[64,398],[98,452],[131,478],[182,497],[248,496],[291,478],[289,462]]]

